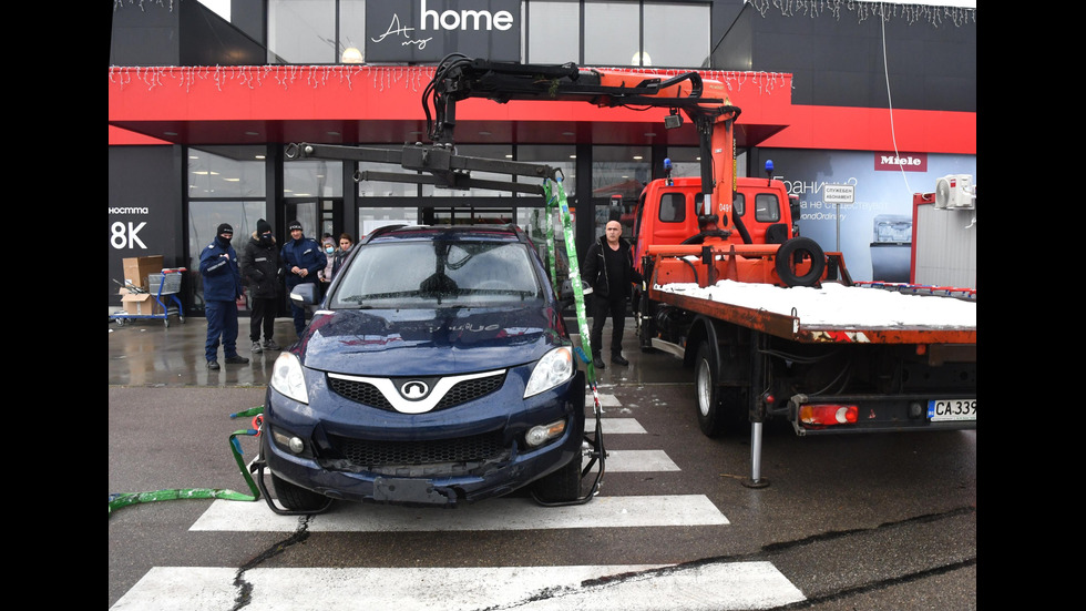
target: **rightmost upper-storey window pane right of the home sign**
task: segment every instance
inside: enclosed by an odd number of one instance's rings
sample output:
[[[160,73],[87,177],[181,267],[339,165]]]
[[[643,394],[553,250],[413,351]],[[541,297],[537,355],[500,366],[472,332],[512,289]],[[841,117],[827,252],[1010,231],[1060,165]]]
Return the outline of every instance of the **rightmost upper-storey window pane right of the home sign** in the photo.
[[[645,2],[645,48],[642,65],[699,68],[708,65],[709,4]],[[675,32],[683,32],[676,37]],[[633,37],[637,42],[637,37]],[[633,62],[636,65],[636,62]]]

